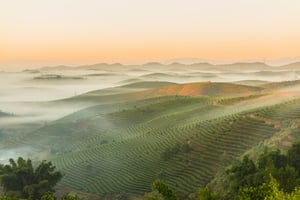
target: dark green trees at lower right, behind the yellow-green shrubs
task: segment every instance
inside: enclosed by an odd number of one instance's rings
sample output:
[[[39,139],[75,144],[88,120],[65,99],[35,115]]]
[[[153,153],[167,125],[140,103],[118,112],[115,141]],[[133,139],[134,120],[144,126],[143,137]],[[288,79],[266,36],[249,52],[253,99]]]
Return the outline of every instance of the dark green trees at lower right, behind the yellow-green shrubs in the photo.
[[[279,150],[264,152],[259,156],[257,163],[245,156],[240,164],[228,170],[228,199],[234,199],[244,187],[260,187],[269,183],[270,174],[278,182],[283,192],[291,193],[300,186],[300,143],[294,144],[287,154]]]

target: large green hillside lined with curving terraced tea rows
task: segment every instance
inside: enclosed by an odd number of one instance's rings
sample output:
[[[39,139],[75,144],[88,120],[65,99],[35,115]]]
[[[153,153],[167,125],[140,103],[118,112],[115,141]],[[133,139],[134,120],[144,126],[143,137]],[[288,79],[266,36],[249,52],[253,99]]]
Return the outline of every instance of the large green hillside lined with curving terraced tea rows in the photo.
[[[143,194],[161,178],[179,191],[195,191],[244,152],[285,129],[277,127],[274,119],[300,105],[295,100],[238,112],[216,102],[220,100],[174,97],[90,118],[101,129],[52,159],[66,174],[59,187],[100,195]],[[296,110],[290,113],[293,119]],[[163,159],[166,149],[176,144],[191,150]]]

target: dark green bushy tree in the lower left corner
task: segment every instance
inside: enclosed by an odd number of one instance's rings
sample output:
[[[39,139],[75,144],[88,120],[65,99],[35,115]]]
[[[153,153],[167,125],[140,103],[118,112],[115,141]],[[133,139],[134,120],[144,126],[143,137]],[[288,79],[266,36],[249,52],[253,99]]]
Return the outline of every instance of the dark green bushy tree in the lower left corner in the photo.
[[[30,159],[10,159],[9,164],[0,165],[0,185],[5,196],[41,199],[46,193],[54,192],[54,186],[62,174],[55,171],[51,162],[42,161],[35,169]]]

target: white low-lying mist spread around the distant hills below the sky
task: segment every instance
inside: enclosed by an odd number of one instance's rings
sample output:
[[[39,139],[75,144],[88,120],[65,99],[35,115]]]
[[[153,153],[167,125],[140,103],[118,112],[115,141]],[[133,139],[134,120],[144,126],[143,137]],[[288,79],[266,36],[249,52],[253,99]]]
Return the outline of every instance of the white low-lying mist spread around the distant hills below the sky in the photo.
[[[99,90],[101,96],[146,90],[147,82],[232,82],[260,86],[270,82],[291,81],[299,78],[297,70],[248,70],[228,68],[197,68],[174,65],[172,68],[133,66],[103,67],[101,69],[25,70],[0,72],[0,163],[10,157],[34,156],[30,146],[14,147],[6,143],[24,134],[34,132],[45,124],[102,102],[88,102],[78,97]],[[133,84],[127,86],[127,84]],[[140,85],[138,84],[140,83]],[[121,87],[122,86],[122,87]],[[143,88],[143,86],[145,86]],[[136,87],[136,88],[134,88]],[[110,88],[110,89],[109,89]],[[103,90],[104,89],[104,90]],[[135,90],[136,89],[136,90]],[[270,97],[261,97],[261,105],[267,101],[278,102],[300,97],[300,87],[281,88]],[[76,100],[69,100],[69,99]],[[277,100],[275,101],[275,99]],[[107,100],[106,100],[107,101]],[[107,103],[107,102],[106,102]],[[13,144],[13,143],[12,143]]]

